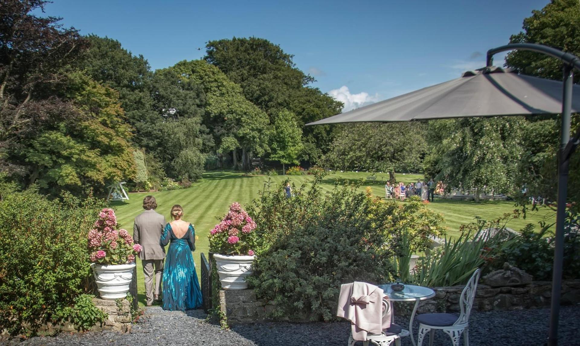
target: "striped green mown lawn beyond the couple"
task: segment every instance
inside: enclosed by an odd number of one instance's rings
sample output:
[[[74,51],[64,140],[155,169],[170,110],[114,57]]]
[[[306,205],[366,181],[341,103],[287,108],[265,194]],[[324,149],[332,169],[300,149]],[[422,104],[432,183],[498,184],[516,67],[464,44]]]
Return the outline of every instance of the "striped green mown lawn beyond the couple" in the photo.
[[[364,172],[333,172],[325,177],[322,188],[332,190],[334,182],[338,180],[356,181],[366,179],[371,174]],[[376,180],[367,180],[365,185],[372,187],[372,192],[378,196],[385,195],[383,181],[389,178],[388,174],[376,174]],[[417,181],[419,174],[397,174],[397,181],[411,183]],[[208,253],[208,233],[213,226],[219,222],[216,217],[222,217],[233,202],[240,202],[243,205],[252,201],[258,196],[264,183],[269,179],[273,183],[281,183],[282,180],[289,178],[296,185],[313,179],[311,176],[244,176],[241,173],[234,172],[207,172],[204,178],[198,183],[191,185],[191,188],[176,191],[162,191],[150,193],[129,194],[128,202],[113,202],[111,205],[116,209],[117,219],[121,227],[133,232],[133,220],[135,216],[143,211],[142,202],[146,195],[153,195],[157,199],[157,212],[164,214],[169,221],[169,211],[174,204],[183,207],[183,219],[191,222],[195,226],[195,234],[198,240],[195,243],[195,269],[198,276],[200,275],[200,254]],[[427,205],[429,208],[444,215],[447,234],[457,234],[461,224],[467,224],[473,221],[474,216],[491,219],[501,216],[503,213],[510,212],[514,209],[513,202],[482,202],[475,203],[469,201],[448,201],[445,199],[436,199],[433,203]],[[528,215],[526,220],[516,219],[510,221],[508,227],[519,230],[527,223],[537,223],[542,217],[551,214],[536,213]],[[553,216],[551,216],[553,219]],[[259,222],[259,220],[257,220]],[[144,283],[143,271],[140,261],[137,260],[137,279],[139,281],[139,303],[144,304]]]

